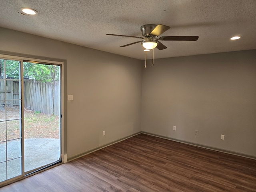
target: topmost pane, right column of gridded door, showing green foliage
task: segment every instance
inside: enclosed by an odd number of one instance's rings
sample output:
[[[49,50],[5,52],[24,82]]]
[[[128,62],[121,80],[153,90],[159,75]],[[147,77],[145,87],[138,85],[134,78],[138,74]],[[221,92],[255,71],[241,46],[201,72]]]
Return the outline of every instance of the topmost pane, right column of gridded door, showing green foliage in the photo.
[[[20,79],[20,62],[6,60],[5,73],[6,79]]]

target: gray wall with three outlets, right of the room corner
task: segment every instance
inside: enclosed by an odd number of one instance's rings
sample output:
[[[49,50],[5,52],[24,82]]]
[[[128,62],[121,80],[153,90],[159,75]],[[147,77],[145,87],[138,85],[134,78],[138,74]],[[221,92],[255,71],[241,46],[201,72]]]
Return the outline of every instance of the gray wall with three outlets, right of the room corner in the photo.
[[[142,131],[256,156],[256,50],[155,60],[143,70]]]

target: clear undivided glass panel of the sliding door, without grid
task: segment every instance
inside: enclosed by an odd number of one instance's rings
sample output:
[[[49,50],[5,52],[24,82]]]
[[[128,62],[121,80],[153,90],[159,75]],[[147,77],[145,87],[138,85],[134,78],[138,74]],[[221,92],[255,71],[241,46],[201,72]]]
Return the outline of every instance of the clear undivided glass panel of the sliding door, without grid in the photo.
[[[24,171],[60,161],[60,66],[24,62]]]

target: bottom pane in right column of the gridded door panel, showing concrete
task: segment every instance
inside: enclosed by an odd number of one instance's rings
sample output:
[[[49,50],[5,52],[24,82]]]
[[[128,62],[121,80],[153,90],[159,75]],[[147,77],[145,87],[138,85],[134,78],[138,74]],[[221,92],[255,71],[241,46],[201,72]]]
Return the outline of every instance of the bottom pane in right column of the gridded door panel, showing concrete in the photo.
[[[21,175],[21,158],[7,162],[7,179]]]

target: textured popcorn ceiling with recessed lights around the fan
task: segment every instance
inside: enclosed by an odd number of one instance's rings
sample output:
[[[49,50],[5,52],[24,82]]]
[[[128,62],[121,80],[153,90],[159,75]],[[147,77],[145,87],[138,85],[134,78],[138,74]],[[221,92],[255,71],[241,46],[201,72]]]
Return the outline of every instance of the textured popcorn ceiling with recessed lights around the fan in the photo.
[[[170,26],[161,36],[199,36],[162,41],[155,58],[256,49],[256,0],[0,0],[1,27],[142,60],[140,43],[118,48],[139,39],[106,34],[142,36],[145,24]]]

